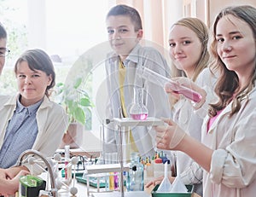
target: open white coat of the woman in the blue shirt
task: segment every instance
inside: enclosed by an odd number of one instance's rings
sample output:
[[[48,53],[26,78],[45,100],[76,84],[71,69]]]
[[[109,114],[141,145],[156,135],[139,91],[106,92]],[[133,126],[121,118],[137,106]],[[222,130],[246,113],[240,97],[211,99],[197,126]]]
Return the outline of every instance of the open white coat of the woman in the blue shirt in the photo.
[[[12,118],[16,108],[17,96],[0,96],[0,148],[3,146],[3,139],[9,119]],[[55,150],[61,143],[62,136],[67,130],[68,118],[64,109],[44,96],[44,101],[38,108],[36,115],[38,123],[38,136],[32,149],[39,151],[45,157],[52,157]],[[27,130],[29,132],[29,130]],[[26,164],[31,170],[31,165]],[[33,166],[33,173],[41,173],[41,169]]]

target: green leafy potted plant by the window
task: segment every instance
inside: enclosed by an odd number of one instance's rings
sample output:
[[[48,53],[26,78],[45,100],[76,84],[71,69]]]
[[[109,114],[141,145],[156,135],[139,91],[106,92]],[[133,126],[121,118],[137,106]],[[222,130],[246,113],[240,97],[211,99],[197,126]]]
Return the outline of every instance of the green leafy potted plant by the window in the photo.
[[[73,83],[56,84],[56,96],[60,96],[60,102],[65,107],[68,114],[69,126],[64,134],[60,148],[70,145],[70,148],[79,148],[83,139],[84,125],[86,123],[86,115],[90,115],[90,108],[93,103],[90,96],[85,90],[81,90],[80,86],[83,79],[75,78]]]

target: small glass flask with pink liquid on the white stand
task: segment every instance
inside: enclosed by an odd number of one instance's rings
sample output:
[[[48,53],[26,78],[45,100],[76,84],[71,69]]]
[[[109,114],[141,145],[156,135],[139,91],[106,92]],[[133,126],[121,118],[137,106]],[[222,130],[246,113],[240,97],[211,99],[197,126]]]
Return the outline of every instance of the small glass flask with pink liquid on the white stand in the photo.
[[[143,103],[143,88],[134,87],[133,102],[130,108],[132,119],[145,120],[148,117],[148,109]]]

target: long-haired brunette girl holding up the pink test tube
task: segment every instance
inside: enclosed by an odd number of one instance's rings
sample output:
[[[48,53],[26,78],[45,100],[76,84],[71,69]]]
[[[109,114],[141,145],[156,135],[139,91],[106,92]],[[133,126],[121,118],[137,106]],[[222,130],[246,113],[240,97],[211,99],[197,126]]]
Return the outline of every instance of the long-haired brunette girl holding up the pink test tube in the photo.
[[[256,194],[256,9],[234,6],[220,11],[212,26],[210,52],[220,69],[198,142],[172,120],[157,126],[158,148],[183,151],[202,166],[204,197]],[[179,84],[203,91],[187,78]],[[168,91],[168,84],[166,84]]]

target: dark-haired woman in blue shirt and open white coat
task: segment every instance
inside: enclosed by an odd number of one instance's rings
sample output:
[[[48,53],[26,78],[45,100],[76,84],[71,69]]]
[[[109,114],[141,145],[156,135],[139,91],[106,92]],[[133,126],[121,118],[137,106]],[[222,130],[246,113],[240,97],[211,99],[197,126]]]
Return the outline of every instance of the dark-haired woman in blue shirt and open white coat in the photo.
[[[49,55],[41,49],[27,50],[15,63],[15,76],[19,94],[0,96],[0,175],[6,183],[20,171],[41,173],[37,165],[15,166],[17,159],[27,149],[53,156],[68,125],[65,110],[49,101],[55,86]],[[0,194],[14,194],[18,187],[19,183],[12,188],[3,186]]]

